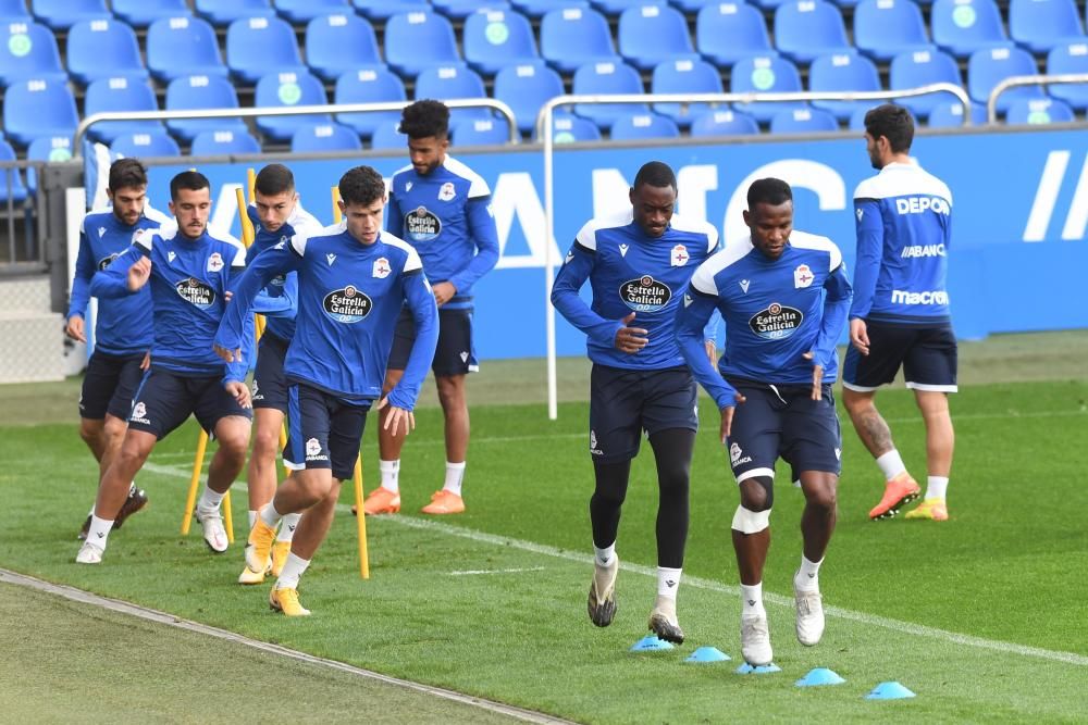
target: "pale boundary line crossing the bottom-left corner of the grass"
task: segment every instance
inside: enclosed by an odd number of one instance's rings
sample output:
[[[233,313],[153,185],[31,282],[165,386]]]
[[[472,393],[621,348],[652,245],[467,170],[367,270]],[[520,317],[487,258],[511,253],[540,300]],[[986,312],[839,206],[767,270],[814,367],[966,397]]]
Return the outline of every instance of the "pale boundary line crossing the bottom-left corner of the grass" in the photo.
[[[212,627],[207,624],[200,624],[199,622],[190,622],[189,620],[182,620],[180,617],[174,616],[173,614],[166,614],[165,612],[160,612],[158,610],[148,609],[146,607],[139,607],[137,604],[129,604],[128,602],[124,602],[118,599],[99,597],[98,595],[92,595],[89,591],[76,589],[75,587],[70,587],[63,584],[52,584],[50,582],[44,582],[41,579],[37,579],[33,576],[16,574],[15,572],[11,572],[5,568],[0,568],[0,582],[21,587],[27,587],[29,589],[36,589],[38,591],[45,591],[47,593],[63,597],[72,601],[82,602],[84,604],[92,604],[95,607],[101,607],[102,609],[108,609],[113,612],[120,612],[121,614],[128,614],[131,616],[136,616],[141,620],[147,620],[149,622],[158,622],[159,624],[165,624],[171,627],[177,627],[180,629],[195,632],[197,634],[207,635],[209,637],[215,637],[217,639],[224,639],[226,641],[236,642],[238,645],[245,645],[247,647],[252,647],[254,649],[258,649],[264,652],[270,652],[272,654],[279,654],[281,657],[287,657],[293,660],[306,662],[308,664],[329,667],[331,670],[338,670],[341,672],[346,672],[350,675],[358,675],[359,677],[366,677],[368,679],[375,679],[378,682],[385,683],[386,685],[397,685],[399,687],[404,687],[410,690],[416,690],[418,692],[423,692],[425,695],[431,695],[433,697],[442,698],[444,700],[452,700],[454,702],[459,702],[461,704],[472,705],[475,708],[480,708],[481,710],[490,710],[491,712],[508,715],[510,717],[516,717],[518,720],[522,720],[529,723],[569,722],[558,717],[552,717],[551,715],[545,715],[543,713],[533,712],[531,710],[522,710],[521,708],[515,708],[512,705],[503,704],[502,702],[492,702],[491,700],[484,700],[478,697],[461,695],[460,692],[443,689],[441,687],[431,687],[430,685],[421,685],[420,683],[413,683],[408,679],[390,677],[388,675],[371,672],[370,670],[363,670],[362,667],[355,667],[349,664],[344,664],[343,662],[336,662],[335,660],[326,660],[324,658],[314,657],[312,654],[307,654],[306,652],[300,652],[298,650],[281,647],[280,645],[272,645],[270,642],[262,642],[258,639],[250,639],[249,637],[243,637],[239,634],[228,632],[226,629],[220,629],[219,627]]]

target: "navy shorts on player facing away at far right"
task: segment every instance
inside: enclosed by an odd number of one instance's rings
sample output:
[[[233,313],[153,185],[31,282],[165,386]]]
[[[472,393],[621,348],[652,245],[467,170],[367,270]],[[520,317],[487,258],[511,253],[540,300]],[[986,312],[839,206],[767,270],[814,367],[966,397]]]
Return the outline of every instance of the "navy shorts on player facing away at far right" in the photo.
[[[870,392],[895,379],[900,365],[906,387],[916,390],[955,392],[957,350],[951,325],[918,327],[887,322],[866,322],[869,354],[846,349],[842,385]]]

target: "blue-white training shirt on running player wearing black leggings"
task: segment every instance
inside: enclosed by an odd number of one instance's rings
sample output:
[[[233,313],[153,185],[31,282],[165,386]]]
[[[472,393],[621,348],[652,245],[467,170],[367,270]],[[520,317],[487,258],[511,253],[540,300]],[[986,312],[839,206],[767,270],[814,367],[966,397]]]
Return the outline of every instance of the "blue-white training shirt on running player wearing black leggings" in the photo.
[[[706,222],[673,214],[660,237],[651,237],[628,209],[594,218],[578,233],[552,288],[552,304],[585,333],[590,360],[629,370],[666,370],[683,365],[673,325],[676,310],[695,268],[718,247],[718,230]],[[593,303],[578,296],[590,280]],[[634,312],[632,327],[647,330],[646,347],[628,353],[616,349],[621,322]],[[704,324],[706,321],[704,321]],[[714,339],[714,329],[700,333]],[[706,360],[706,352],[703,352]]]

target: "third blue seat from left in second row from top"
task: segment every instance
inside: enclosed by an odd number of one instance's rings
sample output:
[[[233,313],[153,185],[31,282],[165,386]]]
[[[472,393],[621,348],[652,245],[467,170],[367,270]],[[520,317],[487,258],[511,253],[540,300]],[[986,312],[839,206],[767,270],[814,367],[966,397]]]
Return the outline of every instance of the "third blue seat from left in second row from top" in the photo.
[[[184,58],[185,63],[177,59]],[[147,66],[162,83],[190,75],[228,73],[219,53],[215,30],[200,17],[163,17],[147,29]]]

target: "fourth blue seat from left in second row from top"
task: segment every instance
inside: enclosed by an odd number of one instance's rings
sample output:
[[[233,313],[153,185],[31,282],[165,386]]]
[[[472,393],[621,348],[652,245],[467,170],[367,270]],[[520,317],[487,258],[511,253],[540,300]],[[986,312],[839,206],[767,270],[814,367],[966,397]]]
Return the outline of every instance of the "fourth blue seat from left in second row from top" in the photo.
[[[244,17],[226,29],[226,65],[244,83],[269,73],[307,72],[295,29],[279,17]]]

